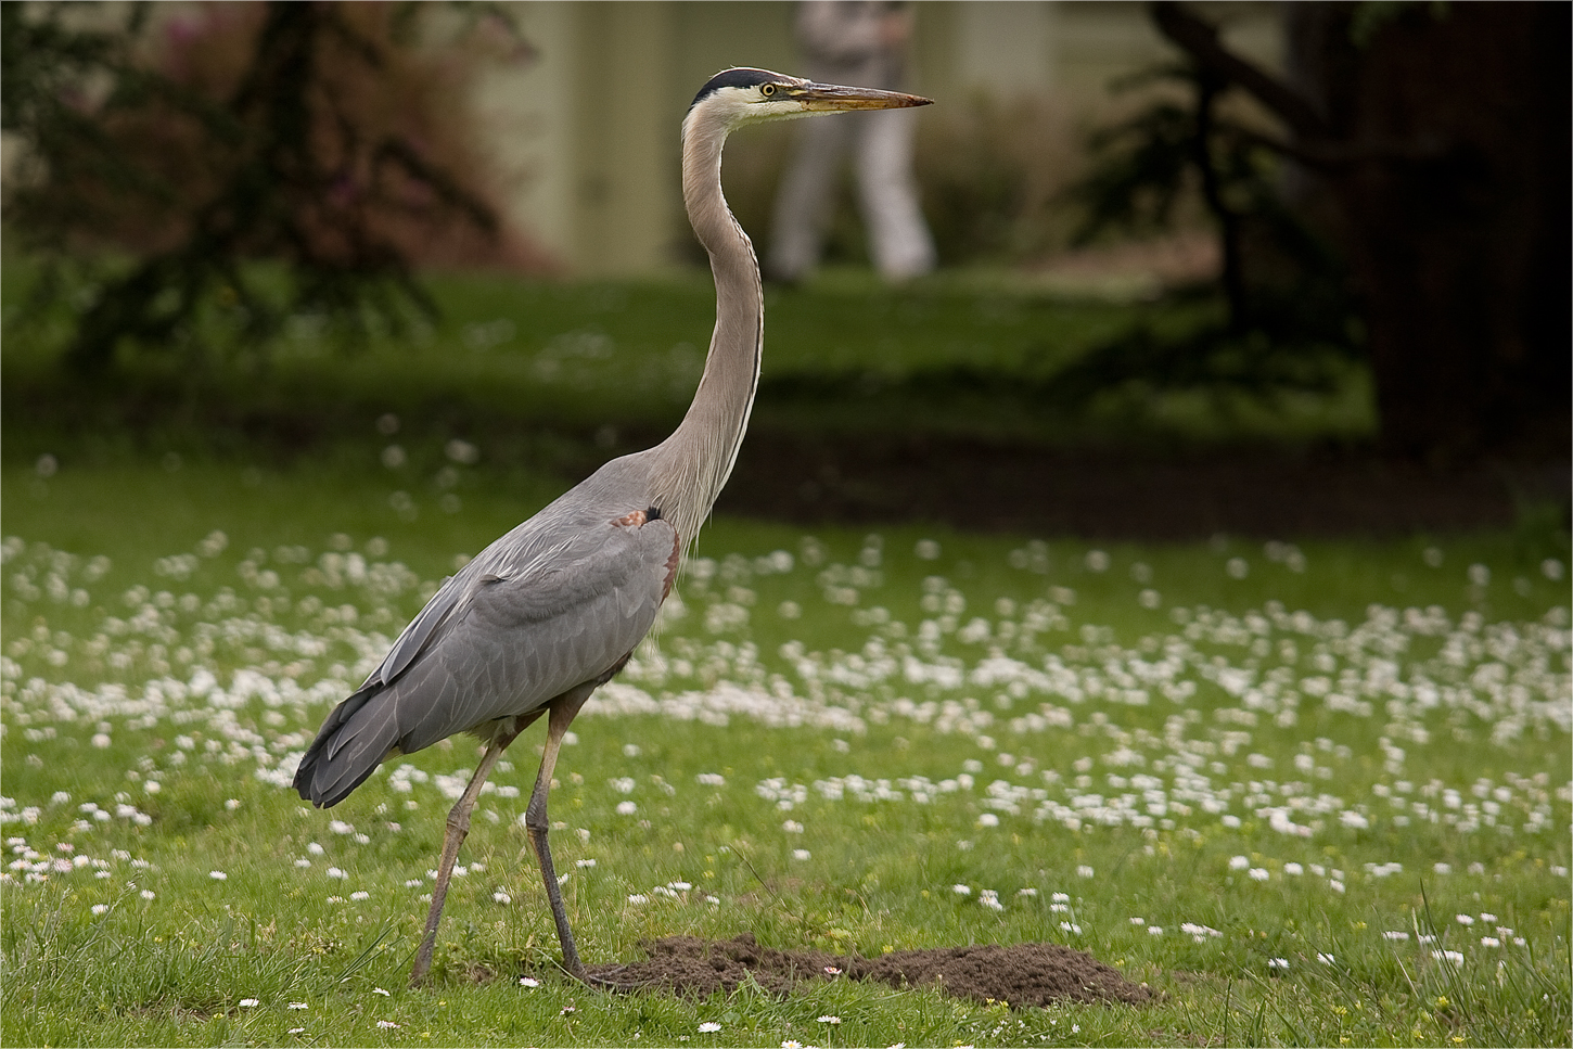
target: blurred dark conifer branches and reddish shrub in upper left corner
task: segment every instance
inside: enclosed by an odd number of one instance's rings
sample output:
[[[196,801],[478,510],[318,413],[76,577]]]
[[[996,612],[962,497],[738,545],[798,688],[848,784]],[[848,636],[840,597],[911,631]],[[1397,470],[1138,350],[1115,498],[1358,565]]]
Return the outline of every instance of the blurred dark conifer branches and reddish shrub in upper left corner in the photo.
[[[400,330],[433,310],[417,261],[529,261],[451,120],[495,31],[420,46],[412,3],[220,3],[160,33],[146,5],[118,25],[77,8],[0,5],[0,123],[27,145],[8,233],[41,266],[20,321],[74,294],[77,376],[123,341],[204,366],[291,318]]]

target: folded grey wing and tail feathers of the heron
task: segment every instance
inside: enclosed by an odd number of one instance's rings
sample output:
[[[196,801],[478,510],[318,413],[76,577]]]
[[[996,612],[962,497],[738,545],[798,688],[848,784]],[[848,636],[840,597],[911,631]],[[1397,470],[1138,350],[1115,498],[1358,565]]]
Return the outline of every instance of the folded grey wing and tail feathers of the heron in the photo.
[[[678,549],[669,522],[521,538],[447,580],[329,716],[296,774],[302,797],[332,805],[393,747],[529,712],[609,673],[650,631]]]

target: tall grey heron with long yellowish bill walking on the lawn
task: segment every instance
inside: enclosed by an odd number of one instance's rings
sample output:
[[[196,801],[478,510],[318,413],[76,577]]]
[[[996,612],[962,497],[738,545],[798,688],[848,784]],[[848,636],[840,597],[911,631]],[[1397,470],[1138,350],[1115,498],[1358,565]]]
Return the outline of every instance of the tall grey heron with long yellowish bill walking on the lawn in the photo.
[[[333,708],[300,758],[294,788],[327,808],[390,756],[456,733],[484,744],[448,813],[411,983],[422,983],[431,967],[475,799],[502,752],[543,714],[546,749],[525,830],[563,969],[585,980],[547,846],[546,801],[557,753],[579,708],[623,668],[656,621],[684,549],[731,473],[758,387],[764,299],[753,245],[720,190],[727,135],[793,116],[926,104],[912,94],[766,69],[727,69],[700,88],[683,120],[683,203],[709,253],[716,329],[687,414],[664,442],[607,462],[445,580],[365,684]]]

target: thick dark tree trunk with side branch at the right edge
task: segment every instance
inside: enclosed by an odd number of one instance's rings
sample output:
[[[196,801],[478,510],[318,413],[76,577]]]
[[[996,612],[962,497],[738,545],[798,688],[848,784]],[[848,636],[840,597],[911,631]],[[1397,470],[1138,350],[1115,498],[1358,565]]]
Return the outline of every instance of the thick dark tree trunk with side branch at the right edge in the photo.
[[[1293,5],[1290,86],[1189,11],[1156,8],[1170,39],[1284,118],[1287,151],[1324,179],[1391,451],[1567,444],[1570,11]]]

